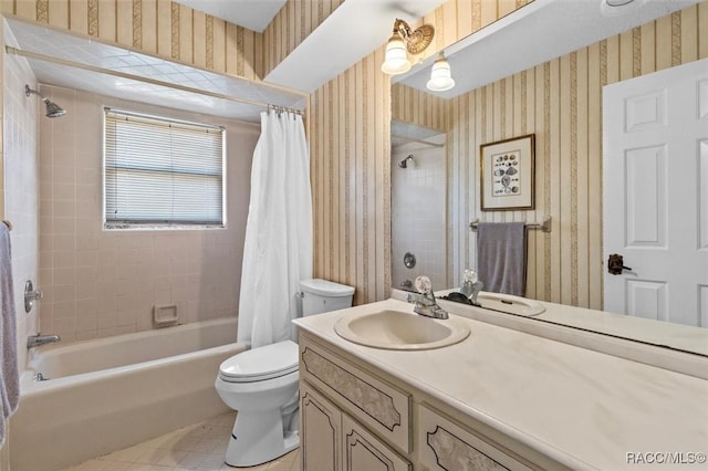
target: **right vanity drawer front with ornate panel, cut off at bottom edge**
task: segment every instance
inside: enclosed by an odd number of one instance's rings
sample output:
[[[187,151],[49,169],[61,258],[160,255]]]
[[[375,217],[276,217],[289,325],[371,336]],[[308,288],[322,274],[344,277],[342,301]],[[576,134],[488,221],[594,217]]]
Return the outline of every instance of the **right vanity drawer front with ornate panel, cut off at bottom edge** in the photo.
[[[430,470],[531,470],[427,406],[418,406],[418,459]]]

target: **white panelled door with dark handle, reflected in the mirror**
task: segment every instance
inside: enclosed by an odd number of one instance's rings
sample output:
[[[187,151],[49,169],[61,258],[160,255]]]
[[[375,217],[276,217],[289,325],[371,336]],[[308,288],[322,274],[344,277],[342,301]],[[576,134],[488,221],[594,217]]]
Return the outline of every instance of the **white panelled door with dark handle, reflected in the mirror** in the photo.
[[[605,311],[708,327],[708,60],[605,86],[603,123]]]

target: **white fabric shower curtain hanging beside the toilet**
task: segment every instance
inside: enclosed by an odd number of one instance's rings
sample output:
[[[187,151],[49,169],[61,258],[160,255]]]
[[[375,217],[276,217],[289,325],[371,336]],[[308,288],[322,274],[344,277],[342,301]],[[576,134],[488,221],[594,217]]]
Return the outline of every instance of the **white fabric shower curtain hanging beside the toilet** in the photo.
[[[293,338],[299,282],[312,278],[310,155],[302,116],[261,113],[251,169],[238,342]]]

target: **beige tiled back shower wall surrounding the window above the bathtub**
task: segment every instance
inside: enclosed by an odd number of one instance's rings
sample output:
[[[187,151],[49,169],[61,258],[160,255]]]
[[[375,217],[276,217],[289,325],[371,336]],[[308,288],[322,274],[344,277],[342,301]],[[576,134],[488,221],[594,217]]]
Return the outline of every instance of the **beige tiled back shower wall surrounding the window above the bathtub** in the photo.
[[[153,307],[181,322],[238,311],[251,157],[260,126],[45,86],[67,111],[40,124],[40,325],[64,341],[153,328]],[[102,229],[103,106],[227,129],[226,229]],[[233,334],[236,338],[236,333]]]

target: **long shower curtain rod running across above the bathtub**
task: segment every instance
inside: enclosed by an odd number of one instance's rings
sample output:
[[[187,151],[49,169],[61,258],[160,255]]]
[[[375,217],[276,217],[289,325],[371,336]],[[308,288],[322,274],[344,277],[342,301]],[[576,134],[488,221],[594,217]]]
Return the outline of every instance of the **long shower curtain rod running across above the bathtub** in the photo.
[[[11,45],[6,45],[4,49],[9,54],[20,55],[22,57],[37,59],[38,61],[51,62],[53,64],[66,65],[69,67],[81,69],[81,70],[84,70],[84,71],[96,72],[96,73],[100,73],[100,74],[113,75],[113,76],[117,76],[117,77],[121,77],[121,78],[128,78],[128,80],[134,80],[134,81],[137,81],[137,82],[149,83],[149,84],[153,84],[153,85],[165,86],[165,87],[168,87],[168,88],[181,90],[183,92],[196,93],[196,94],[199,94],[199,95],[211,96],[214,98],[221,98],[221,100],[228,100],[230,102],[243,103],[243,104],[252,105],[252,106],[260,106],[260,107],[263,107],[263,108],[267,108],[267,109],[270,109],[270,108],[284,109],[284,111],[288,111],[288,112],[296,113],[299,115],[304,115],[304,112],[301,111],[301,109],[288,108],[288,107],[284,107],[284,106],[271,105],[270,103],[257,102],[257,101],[253,101],[253,100],[246,100],[246,98],[239,98],[237,96],[226,95],[226,94],[222,94],[222,93],[216,93],[216,92],[209,92],[209,91],[206,91],[206,90],[192,88],[190,86],[179,85],[179,84],[176,84],[176,83],[169,83],[169,82],[163,82],[163,81],[159,81],[159,80],[142,77],[139,75],[128,74],[128,73],[125,73],[125,72],[112,71],[111,69],[96,67],[94,65],[82,64],[80,62],[73,62],[73,61],[66,61],[64,59],[52,57],[51,55],[44,55],[44,54],[40,54],[40,53],[37,53],[37,52],[24,51],[24,50],[21,50],[21,49],[18,49],[18,48],[13,48]]]

